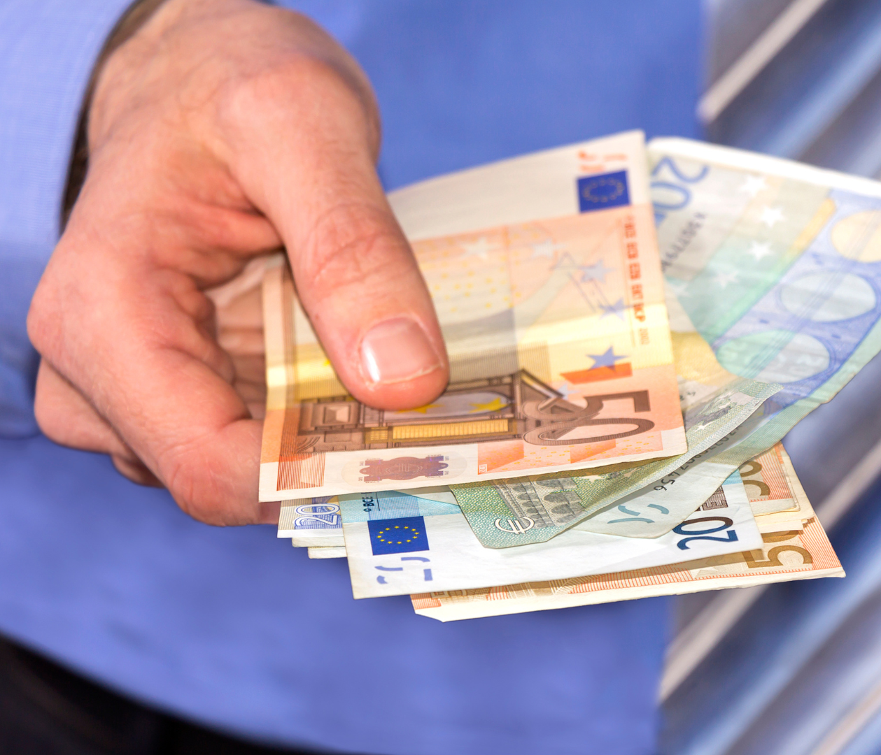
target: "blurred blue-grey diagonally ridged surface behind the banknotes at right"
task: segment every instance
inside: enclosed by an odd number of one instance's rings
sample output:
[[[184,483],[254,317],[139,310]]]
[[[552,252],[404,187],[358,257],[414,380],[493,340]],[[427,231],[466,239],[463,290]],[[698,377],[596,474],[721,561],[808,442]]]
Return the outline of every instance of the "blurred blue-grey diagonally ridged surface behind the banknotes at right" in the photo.
[[[881,3],[706,0],[707,138],[881,173]],[[881,752],[881,361],[784,443],[848,576],[677,598],[665,755]]]

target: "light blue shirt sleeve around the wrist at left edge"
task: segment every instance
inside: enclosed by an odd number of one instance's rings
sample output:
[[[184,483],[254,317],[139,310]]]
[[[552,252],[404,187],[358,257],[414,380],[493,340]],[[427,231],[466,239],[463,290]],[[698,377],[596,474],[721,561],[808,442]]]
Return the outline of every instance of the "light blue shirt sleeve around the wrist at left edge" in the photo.
[[[55,246],[95,58],[130,0],[0,4],[0,436],[33,435],[38,359],[25,319]]]

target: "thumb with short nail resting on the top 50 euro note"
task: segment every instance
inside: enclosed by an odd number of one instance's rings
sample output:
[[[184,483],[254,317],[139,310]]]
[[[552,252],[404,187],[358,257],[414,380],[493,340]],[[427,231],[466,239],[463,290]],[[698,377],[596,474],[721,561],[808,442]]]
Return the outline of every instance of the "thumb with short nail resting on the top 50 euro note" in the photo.
[[[296,86],[251,92],[236,172],[283,238],[300,302],[349,392],[377,408],[422,406],[447,385],[447,352],[376,174],[372,111],[335,70],[298,73]]]

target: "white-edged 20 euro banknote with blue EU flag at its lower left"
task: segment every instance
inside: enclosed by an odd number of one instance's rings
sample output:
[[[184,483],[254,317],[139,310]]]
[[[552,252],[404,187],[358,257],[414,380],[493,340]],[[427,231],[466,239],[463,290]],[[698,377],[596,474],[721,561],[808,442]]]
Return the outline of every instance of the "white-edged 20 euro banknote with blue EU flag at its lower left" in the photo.
[[[759,547],[761,537],[737,473],[710,497],[707,512],[655,539],[622,538],[574,527],[518,548],[481,546],[461,510],[405,492],[341,495],[345,551],[354,597],[464,590],[539,579],[603,574]],[[707,523],[712,520],[707,537]],[[693,531],[692,531],[693,530]]]

